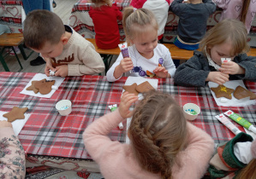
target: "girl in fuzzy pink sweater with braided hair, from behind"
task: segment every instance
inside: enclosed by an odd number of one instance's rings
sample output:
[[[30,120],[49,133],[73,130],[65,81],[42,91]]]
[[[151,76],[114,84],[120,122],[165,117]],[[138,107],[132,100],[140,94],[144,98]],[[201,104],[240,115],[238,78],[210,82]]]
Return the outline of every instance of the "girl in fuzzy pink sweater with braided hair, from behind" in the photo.
[[[149,91],[134,111],[138,96],[124,92],[112,113],[90,124],[83,140],[105,178],[201,178],[214,151],[211,136],[186,121],[170,96]],[[111,141],[109,134],[125,118],[130,144]]]

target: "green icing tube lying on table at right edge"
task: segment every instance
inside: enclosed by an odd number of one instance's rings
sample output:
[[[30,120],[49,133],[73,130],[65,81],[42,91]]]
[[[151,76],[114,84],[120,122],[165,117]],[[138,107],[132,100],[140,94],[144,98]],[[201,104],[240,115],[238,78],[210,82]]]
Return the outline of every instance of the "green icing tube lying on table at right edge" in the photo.
[[[236,123],[241,124],[241,126],[246,128],[247,130],[251,130],[253,131],[253,133],[256,134],[256,128],[253,126],[253,124],[249,123],[245,118],[241,118],[240,115],[232,112],[231,110],[225,112],[224,114],[229,116],[229,118],[232,118],[233,120],[235,120]]]

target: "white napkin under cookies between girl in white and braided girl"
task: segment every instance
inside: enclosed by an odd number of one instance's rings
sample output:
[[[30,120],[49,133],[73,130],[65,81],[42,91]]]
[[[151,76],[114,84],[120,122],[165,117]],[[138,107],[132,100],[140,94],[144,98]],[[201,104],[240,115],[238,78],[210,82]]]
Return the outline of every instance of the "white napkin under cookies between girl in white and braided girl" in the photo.
[[[155,90],[158,90],[158,79],[142,78],[142,77],[128,77],[124,85],[132,85],[134,83],[139,85],[146,81],[148,81],[148,83],[150,83]],[[124,92],[124,90],[122,90],[122,92]],[[142,98],[143,98],[141,93],[139,93],[138,97],[139,97],[139,100],[142,100]],[[131,120],[132,120],[132,118],[127,118],[127,120],[126,120],[126,131],[127,132],[128,132],[128,128],[130,126]],[[130,142],[127,134],[126,134],[125,142],[126,143]]]

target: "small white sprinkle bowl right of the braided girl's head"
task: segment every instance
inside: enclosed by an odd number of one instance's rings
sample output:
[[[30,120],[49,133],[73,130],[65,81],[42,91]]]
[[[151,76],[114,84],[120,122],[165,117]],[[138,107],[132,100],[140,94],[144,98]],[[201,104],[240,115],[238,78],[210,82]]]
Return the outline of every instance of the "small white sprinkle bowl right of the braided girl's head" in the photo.
[[[192,113],[190,113],[190,111],[192,111]],[[193,103],[187,103],[183,106],[183,113],[187,120],[194,120],[200,113],[200,107]]]

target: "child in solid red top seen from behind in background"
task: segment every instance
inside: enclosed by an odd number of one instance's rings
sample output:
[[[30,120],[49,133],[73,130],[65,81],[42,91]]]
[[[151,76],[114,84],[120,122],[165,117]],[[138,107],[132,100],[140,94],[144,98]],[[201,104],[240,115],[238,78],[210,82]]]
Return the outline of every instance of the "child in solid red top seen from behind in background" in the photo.
[[[117,20],[122,20],[122,12],[112,0],[91,0],[89,15],[95,31],[95,42],[99,49],[114,49],[120,43]],[[113,3],[113,4],[112,4]]]

